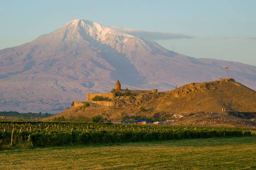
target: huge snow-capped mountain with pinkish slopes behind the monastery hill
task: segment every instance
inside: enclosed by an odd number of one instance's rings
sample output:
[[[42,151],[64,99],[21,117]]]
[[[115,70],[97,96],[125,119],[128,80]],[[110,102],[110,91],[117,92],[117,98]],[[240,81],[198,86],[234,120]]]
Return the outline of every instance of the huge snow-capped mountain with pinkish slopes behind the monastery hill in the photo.
[[[175,85],[230,77],[256,89],[256,67],[196,59],[169,51],[125,28],[75,19],[13,48],[0,50],[0,110],[58,111],[87,92],[122,88],[168,91]]]

